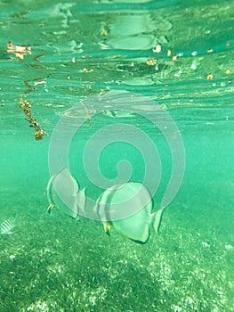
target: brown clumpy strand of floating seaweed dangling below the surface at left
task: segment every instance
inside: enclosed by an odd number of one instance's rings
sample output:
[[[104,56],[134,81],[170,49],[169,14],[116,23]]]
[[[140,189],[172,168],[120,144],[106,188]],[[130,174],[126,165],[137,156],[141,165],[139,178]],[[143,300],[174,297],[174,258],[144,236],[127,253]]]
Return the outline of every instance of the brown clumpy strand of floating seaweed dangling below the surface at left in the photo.
[[[35,129],[34,137],[36,141],[42,140],[44,135],[48,135],[40,126],[38,121],[32,117],[31,113],[31,104],[27,100],[23,100],[22,95],[20,94],[20,108],[25,114],[25,119],[29,122],[29,127]]]

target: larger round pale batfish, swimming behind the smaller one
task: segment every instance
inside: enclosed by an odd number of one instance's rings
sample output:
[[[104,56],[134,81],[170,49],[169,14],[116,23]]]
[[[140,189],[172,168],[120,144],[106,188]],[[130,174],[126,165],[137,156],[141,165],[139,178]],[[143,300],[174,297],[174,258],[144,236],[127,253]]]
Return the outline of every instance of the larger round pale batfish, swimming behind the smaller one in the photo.
[[[149,240],[151,227],[158,232],[163,213],[163,209],[152,212],[153,203],[148,190],[133,182],[114,185],[104,191],[94,209],[103,220],[107,234],[110,235],[110,230],[114,228],[139,243]]]

